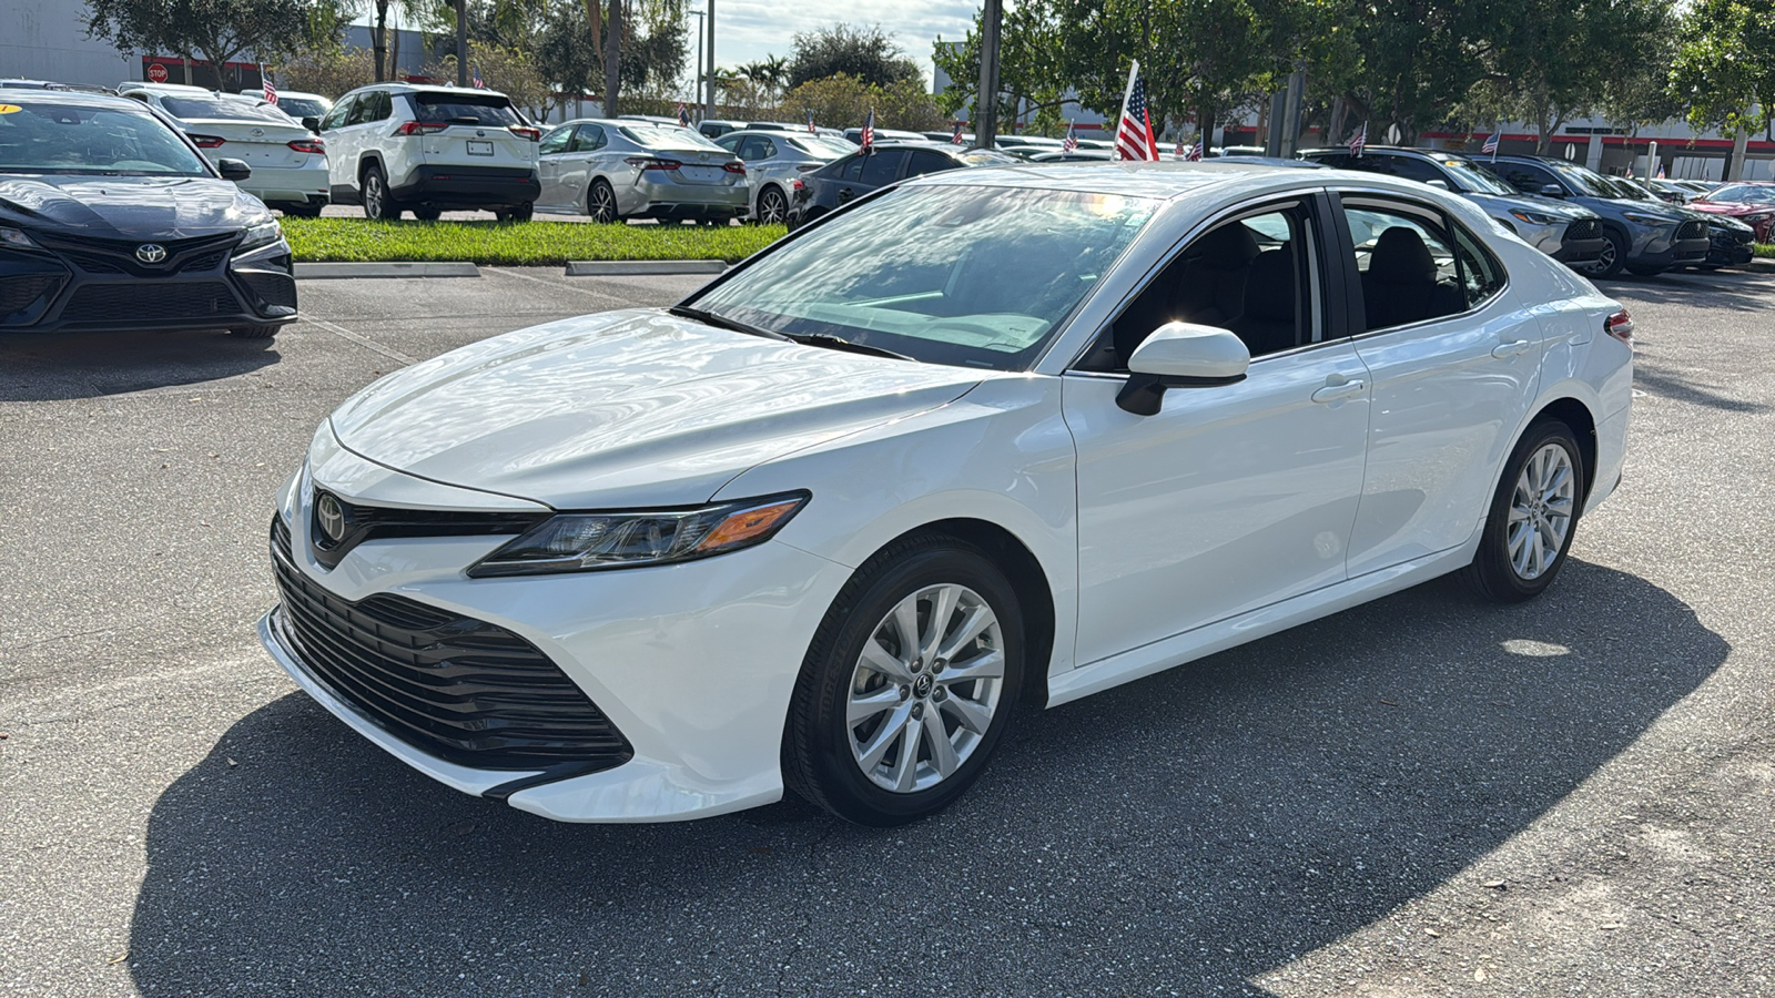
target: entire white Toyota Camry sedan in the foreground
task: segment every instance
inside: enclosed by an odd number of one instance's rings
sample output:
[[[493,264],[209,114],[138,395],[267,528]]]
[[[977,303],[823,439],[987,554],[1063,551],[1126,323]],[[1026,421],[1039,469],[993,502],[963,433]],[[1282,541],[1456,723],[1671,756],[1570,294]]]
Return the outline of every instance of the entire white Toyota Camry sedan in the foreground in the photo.
[[[1424,185],[953,170],[369,385],[280,495],[259,632],[538,815],[896,824],[1019,701],[1448,572],[1539,595],[1629,398],[1621,305]]]

